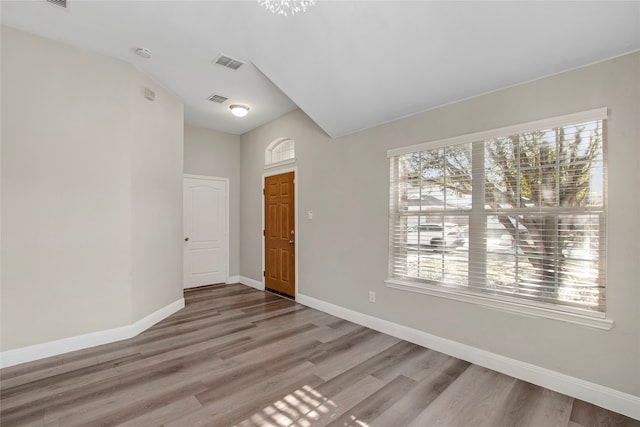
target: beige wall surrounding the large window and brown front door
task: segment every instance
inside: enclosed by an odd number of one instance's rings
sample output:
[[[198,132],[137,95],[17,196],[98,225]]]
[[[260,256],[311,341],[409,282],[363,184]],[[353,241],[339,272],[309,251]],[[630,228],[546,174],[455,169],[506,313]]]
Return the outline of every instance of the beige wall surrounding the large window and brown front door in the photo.
[[[298,292],[449,340],[640,396],[640,53],[519,85],[331,140],[301,111],[242,136],[240,274],[261,280],[264,149],[295,140]],[[609,108],[610,331],[386,288],[386,151]],[[633,189],[633,190],[632,190]],[[306,212],[314,212],[313,220]],[[368,291],[377,302],[367,300]]]

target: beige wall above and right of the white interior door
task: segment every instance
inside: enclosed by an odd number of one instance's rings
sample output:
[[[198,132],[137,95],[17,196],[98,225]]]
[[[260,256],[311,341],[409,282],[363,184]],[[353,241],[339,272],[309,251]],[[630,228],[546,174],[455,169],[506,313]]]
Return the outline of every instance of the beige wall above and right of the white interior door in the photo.
[[[229,178],[229,276],[240,274],[240,136],[184,127],[184,173]]]

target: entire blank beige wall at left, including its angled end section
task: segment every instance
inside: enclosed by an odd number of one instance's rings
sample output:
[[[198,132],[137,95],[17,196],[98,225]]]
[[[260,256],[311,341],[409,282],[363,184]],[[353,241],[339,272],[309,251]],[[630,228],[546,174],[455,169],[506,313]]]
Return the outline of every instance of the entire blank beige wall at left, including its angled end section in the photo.
[[[182,104],[129,64],[2,27],[2,351],[181,298]]]

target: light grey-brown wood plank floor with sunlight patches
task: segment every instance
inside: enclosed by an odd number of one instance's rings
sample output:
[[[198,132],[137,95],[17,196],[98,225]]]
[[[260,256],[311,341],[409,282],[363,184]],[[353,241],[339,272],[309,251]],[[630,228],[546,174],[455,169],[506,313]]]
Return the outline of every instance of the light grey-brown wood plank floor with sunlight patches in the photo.
[[[9,426],[640,426],[243,285],[130,340],[3,369]]]

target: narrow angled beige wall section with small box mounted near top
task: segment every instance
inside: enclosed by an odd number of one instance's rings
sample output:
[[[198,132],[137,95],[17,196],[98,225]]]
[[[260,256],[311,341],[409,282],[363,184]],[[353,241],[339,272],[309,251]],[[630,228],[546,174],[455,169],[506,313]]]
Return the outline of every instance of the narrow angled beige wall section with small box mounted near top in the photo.
[[[184,106],[145,74],[131,86],[133,320],[182,298]],[[144,88],[155,92],[153,102]]]

